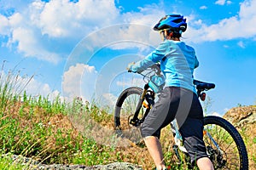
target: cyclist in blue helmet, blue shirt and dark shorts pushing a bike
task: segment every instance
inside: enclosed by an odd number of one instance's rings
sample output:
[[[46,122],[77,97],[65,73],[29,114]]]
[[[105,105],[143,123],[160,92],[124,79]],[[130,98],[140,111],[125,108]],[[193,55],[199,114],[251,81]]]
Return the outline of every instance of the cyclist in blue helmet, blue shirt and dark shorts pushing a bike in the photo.
[[[166,78],[166,87],[160,99],[149,111],[141,133],[156,169],[166,169],[160,145],[160,130],[177,119],[184,147],[188,150],[192,164],[200,169],[213,169],[203,142],[203,111],[193,85],[193,72],[199,65],[195,49],[180,41],[187,29],[186,19],[181,14],[168,14],[155,26],[163,42],[145,59],[128,65],[132,72],[141,72],[160,62]]]

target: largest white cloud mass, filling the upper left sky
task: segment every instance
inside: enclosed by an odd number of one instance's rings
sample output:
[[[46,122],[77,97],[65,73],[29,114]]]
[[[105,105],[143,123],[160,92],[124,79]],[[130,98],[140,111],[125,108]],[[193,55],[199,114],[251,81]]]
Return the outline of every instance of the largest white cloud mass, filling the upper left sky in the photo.
[[[5,5],[12,8],[9,3]],[[80,39],[98,27],[109,26],[119,18],[114,1],[88,0],[72,3],[67,0],[52,0],[44,3],[35,0],[23,10],[17,7],[15,9],[15,14],[11,16],[0,15],[0,35],[9,37],[6,45],[9,48],[15,47],[26,57],[54,64],[61,60],[60,54],[50,50],[50,44],[57,38],[67,37],[68,41],[78,41],[78,37]]]

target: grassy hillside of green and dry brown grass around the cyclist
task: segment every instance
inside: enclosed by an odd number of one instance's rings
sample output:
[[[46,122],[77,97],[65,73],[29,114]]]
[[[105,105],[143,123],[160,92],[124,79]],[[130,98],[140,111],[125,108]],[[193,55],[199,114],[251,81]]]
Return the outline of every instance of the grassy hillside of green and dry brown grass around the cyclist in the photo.
[[[0,154],[7,153],[32,157],[44,164],[108,164],[126,161],[141,165],[143,169],[153,169],[143,141],[133,144],[119,139],[113,133],[113,115],[108,108],[61,102],[58,97],[49,100],[36,98],[19,91],[20,84],[12,74],[0,77]],[[247,133],[242,133],[247,139]],[[161,143],[165,160],[172,169],[185,169],[178,165],[172,151],[170,129],[163,129]],[[247,149],[253,150],[251,140]],[[255,155],[250,155],[255,164]],[[0,158],[0,169],[22,169],[8,157]]]

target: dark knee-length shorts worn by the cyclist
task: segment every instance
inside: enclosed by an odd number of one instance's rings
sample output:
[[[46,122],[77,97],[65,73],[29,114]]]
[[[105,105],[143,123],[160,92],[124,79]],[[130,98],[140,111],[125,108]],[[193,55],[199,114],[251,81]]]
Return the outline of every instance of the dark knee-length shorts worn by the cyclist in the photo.
[[[166,87],[160,93],[160,99],[149,111],[141,133],[143,138],[156,136],[160,130],[177,119],[179,132],[183,136],[184,147],[188,150],[192,162],[207,157],[203,142],[203,111],[197,95],[185,88]]]

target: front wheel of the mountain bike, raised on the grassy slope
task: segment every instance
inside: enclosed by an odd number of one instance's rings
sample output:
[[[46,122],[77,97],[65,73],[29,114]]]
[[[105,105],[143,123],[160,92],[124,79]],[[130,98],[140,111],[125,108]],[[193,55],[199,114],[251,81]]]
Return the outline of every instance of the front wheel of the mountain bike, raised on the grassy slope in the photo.
[[[139,127],[131,125],[131,118],[139,104],[143,88],[127,88],[120,95],[114,108],[114,128],[122,138],[130,139],[137,143],[142,138]],[[143,118],[145,108],[141,107],[138,118]]]

